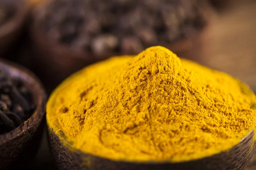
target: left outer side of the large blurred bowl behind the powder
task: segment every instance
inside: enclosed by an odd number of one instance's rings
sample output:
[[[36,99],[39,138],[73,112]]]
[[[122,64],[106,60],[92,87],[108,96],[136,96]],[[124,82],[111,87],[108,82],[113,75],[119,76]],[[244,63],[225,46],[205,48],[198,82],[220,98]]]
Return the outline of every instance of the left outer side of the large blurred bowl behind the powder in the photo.
[[[30,34],[35,56],[29,60],[36,66],[34,72],[46,82],[48,93],[70,74],[111,56],[105,54],[99,57],[88,51],[76,51],[69,46],[58,44],[52,41],[36,22],[33,23]]]

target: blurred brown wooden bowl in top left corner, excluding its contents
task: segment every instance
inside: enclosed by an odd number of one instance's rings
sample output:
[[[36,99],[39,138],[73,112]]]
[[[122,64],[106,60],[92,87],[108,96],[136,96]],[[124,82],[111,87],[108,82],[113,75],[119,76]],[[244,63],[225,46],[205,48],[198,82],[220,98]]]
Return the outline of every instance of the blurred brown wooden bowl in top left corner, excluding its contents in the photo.
[[[26,0],[1,0],[0,4],[12,6],[15,10],[15,14],[0,26],[0,54],[3,54],[19,37],[29,6]]]

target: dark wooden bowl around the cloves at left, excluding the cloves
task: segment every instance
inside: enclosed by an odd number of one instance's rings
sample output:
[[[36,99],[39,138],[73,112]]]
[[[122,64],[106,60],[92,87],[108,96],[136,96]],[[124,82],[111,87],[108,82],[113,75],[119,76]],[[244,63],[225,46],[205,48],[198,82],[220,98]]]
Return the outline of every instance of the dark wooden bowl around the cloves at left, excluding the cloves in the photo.
[[[1,70],[21,79],[30,89],[37,106],[32,116],[9,133],[0,135],[0,170],[17,169],[35,157],[44,127],[46,93],[40,81],[25,68],[0,60]]]

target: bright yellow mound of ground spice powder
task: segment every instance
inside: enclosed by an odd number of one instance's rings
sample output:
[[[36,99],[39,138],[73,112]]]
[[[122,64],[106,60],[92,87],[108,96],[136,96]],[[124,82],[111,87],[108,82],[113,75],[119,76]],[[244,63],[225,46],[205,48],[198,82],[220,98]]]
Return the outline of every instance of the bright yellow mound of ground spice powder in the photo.
[[[179,162],[238,144],[256,125],[256,96],[239,80],[156,46],[67,78],[47,103],[47,123],[96,156]]]

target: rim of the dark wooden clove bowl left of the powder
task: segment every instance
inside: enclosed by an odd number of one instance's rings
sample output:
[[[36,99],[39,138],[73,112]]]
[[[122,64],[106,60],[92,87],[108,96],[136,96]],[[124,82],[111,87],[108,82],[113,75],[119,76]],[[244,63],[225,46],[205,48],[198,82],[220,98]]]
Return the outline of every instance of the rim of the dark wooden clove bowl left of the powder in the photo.
[[[36,101],[35,111],[28,120],[23,122],[20,126],[10,131],[9,133],[0,135],[1,145],[9,142],[12,139],[15,139],[17,136],[21,135],[26,130],[29,130],[31,127],[35,126],[38,122],[40,122],[41,119],[43,119],[47,96],[43,86],[41,85],[41,82],[33,73],[31,73],[26,68],[15,65],[4,59],[0,59],[0,68],[3,69],[3,71],[10,73],[11,77],[19,77],[19,75],[22,74],[22,76],[20,76],[19,78],[23,80],[26,78],[24,81],[26,85],[28,85],[26,83],[26,80],[30,82],[30,85],[28,86],[32,92],[33,100]]]

